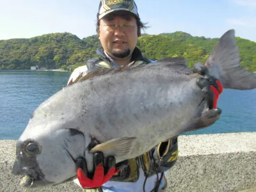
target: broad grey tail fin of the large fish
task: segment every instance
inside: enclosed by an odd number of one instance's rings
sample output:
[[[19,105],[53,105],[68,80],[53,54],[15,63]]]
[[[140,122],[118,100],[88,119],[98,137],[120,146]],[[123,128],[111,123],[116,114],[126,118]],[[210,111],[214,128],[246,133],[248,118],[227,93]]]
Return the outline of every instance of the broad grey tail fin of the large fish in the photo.
[[[209,73],[220,79],[224,88],[251,90],[256,88],[256,77],[240,65],[239,48],[235,46],[234,29],[227,31],[220,38],[205,66]]]

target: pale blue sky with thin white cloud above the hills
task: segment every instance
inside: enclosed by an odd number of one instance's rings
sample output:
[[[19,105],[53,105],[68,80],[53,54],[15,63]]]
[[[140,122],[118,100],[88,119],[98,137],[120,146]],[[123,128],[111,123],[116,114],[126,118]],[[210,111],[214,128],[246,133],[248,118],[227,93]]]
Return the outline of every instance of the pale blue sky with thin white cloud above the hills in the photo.
[[[228,29],[256,42],[256,0],[137,0],[145,33],[184,31],[220,37]],[[69,32],[95,35],[99,0],[8,0],[0,6],[0,40]]]

